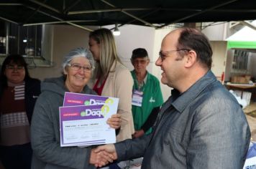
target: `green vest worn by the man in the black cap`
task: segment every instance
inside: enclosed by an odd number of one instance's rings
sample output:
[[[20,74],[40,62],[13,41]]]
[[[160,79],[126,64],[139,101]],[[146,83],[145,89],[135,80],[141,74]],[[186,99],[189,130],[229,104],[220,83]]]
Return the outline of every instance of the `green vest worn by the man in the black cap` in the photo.
[[[135,71],[131,71],[132,78],[134,80],[133,90],[138,90],[138,84]],[[146,84],[140,89],[143,92],[142,107],[132,105],[132,116],[134,121],[134,129],[140,130],[142,125],[146,122],[150,116],[150,112],[155,107],[163,105],[163,95],[160,89],[160,82],[154,75],[147,72]],[[150,130],[145,131],[146,134],[152,132]]]

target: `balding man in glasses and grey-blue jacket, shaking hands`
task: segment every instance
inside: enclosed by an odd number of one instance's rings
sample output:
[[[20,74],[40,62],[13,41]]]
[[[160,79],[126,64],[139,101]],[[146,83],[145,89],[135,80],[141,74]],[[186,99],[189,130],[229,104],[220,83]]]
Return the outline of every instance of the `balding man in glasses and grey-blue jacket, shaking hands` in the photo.
[[[142,169],[241,169],[250,129],[237,100],[211,72],[209,40],[196,29],[170,32],[156,65],[173,87],[152,134],[100,146],[117,160],[144,157]]]

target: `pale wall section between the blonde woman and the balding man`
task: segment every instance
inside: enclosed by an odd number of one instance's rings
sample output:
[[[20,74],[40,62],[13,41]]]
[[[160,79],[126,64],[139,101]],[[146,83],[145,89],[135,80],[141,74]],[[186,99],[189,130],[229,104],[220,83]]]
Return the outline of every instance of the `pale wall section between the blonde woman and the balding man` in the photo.
[[[163,37],[170,32],[171,29],[157,29],[148,26],[126,25],[119,28],[121,35],[115,37],[116,47],[119,56],[129,69],[133,69],[130,62],[132,50],[138,47],[145,48],[150,57],[150,64],[147,70],[155,75],[161,81],[161,69],[155,65],[158,58]],[[160,87],[163,93],[163,99],[167,100],[170,97],[171,88],[160,82]]]

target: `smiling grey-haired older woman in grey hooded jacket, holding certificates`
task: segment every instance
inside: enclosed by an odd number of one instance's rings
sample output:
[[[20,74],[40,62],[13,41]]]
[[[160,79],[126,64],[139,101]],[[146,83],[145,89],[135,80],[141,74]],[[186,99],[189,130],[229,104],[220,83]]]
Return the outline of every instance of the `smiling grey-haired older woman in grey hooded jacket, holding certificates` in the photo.
[[[96,155],[91,147],[60,147],[59,107],[63,106],[65,92],[96,95],[87,83],[93,69],[93,56],[88,49],[71,50],[63,59],[63,76],[45,79],[42,94],[37,99],[31,126],[33,149],[32,168],[94,168],[94,163],[110,157]],[[110,127],[120,127],[120,116],[108,120]],[[103,159],[101,159],[103,158]]]

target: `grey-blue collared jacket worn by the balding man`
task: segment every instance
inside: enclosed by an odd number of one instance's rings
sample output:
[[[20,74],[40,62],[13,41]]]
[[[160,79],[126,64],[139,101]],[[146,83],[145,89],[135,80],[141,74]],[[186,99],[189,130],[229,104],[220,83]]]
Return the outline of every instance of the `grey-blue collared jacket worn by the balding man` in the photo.
[[[250,128],[237,100],[209,71],[163,105],[151,135],[116,143],[118,160],[144,156],[142,169],[241,169]]]

